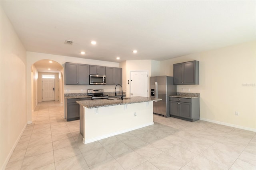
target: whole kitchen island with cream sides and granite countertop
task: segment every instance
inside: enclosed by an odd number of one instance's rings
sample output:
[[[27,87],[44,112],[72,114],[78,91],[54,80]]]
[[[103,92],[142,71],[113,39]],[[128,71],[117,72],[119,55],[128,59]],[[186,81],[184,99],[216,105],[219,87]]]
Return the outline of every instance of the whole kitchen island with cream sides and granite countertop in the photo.
[[[153,125],[153,101],[150,97],[121,100],[99,99],[77,101],[80,104],[80,133],[83,143]]]

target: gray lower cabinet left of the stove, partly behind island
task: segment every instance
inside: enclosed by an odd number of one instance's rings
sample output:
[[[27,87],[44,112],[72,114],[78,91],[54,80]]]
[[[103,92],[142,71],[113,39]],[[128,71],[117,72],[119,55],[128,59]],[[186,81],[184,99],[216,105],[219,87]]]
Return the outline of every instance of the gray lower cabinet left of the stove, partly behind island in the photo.
[[[91,98],[65,99],[66,121],[78,120],[80,117],[80,105],[76,101],[91,100]]]

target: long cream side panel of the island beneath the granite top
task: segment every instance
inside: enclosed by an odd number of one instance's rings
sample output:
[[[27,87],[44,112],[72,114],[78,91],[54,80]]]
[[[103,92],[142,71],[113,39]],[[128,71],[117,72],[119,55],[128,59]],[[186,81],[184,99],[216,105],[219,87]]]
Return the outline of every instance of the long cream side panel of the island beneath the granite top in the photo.
[[[93,109],[84,107],[83,142],[94,142],[153,124],[153,101]]]

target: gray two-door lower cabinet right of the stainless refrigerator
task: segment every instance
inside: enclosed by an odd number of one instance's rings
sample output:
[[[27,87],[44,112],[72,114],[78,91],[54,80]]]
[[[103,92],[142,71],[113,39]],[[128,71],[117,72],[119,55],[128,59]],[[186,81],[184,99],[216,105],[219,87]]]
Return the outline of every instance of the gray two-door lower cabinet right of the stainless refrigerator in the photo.
[[[192,122],[199,120],[199,98],[169,97],[169,107],[171,117]]]

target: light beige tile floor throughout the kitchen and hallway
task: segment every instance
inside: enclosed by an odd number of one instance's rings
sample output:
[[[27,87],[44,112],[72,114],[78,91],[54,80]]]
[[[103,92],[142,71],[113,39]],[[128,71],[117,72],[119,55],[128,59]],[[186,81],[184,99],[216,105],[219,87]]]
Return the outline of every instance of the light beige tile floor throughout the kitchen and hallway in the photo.
[[[82,143],[79,120],[40,102],[6,170],[255,170],[256,133],[154,115],[154,125]]]

